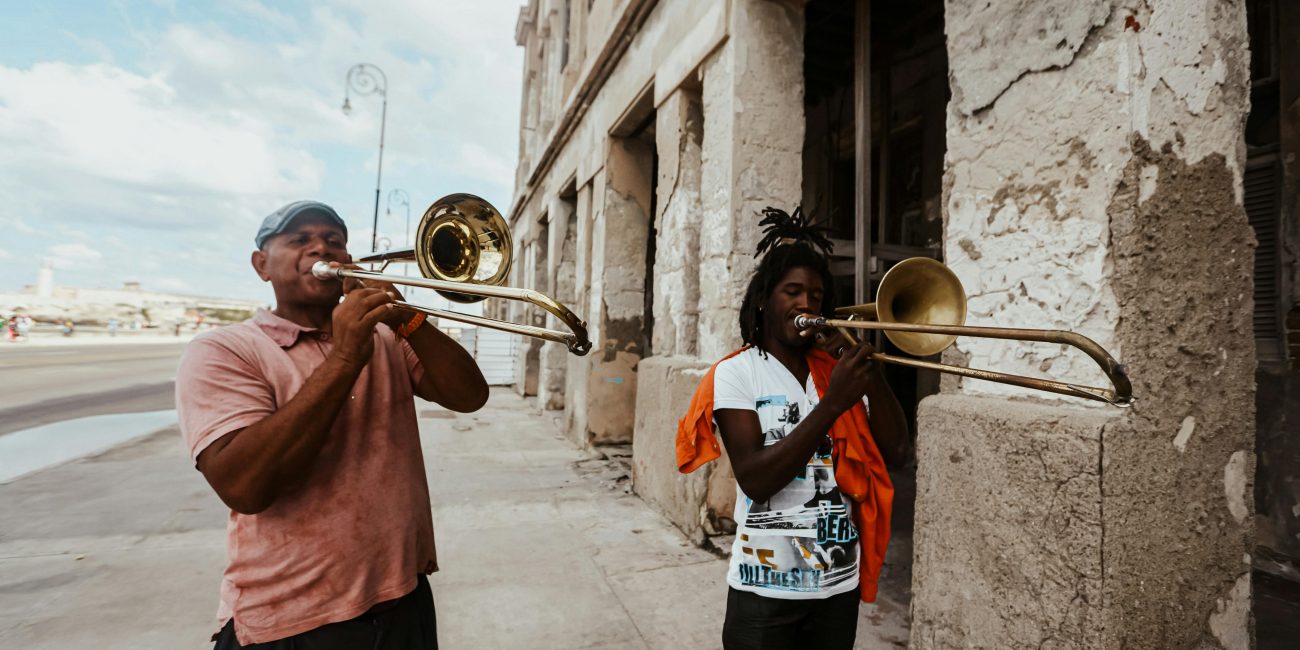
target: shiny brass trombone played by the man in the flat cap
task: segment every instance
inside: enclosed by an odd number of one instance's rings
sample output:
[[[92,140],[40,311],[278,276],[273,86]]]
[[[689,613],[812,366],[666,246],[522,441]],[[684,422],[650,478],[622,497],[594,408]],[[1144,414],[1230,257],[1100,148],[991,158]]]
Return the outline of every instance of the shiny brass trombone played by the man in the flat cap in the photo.
[[[486,298],[532,303],[559,318],[569,332],[434,309],[404,300],[394,302],[404,309],[439,318],[564,343],[568,351],[577,356],[592,350],[592,342],[586,338],[586,322],[568,307],[530,289],[502,286],[510,273],[510,228],[497,208],[472,194],[450,194],[434,202],[420,217],[413,247],[385,251],[356,261],[381,264],[381,266],[378,270],[358,270],[317,261],[312,265],[312,274],[321,280],[356,278],[363,282],[369,280],[432,289],[443,298],[462,304],[477,303]],[[410,261],[420,266],[422,278],[382,273],[389,264]]]

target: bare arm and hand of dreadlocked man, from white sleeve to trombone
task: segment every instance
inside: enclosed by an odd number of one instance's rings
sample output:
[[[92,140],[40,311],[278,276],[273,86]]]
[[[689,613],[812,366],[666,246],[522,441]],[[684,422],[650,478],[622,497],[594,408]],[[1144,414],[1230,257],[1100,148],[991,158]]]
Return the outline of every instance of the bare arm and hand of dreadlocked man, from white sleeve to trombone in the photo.
[[[868,350],[859,346],[846,352],[831,372],[831,385],[827,386],[822,402],[794,426],[789,436],[774,445],[763,446],[763,432],[754,411],[738,408],[714,411],[727,456],[736,473],[736,482],[749,498],[767,500],[789,485],[826,439],[831,425],[841,413],[862,400],[868,382]]]

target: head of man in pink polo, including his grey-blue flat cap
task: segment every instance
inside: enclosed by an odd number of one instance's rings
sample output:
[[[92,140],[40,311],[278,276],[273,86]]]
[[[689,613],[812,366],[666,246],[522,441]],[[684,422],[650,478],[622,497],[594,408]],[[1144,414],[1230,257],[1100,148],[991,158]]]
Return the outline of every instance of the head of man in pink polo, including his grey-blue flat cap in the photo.
[[[283,233],[266,240],[252,254],[252,266],[276,290],[281,304],[333,306],[343,295],[338,280],[312,276],[317,261],[350,263],[347,235],[333,221],[318,214],[295,218]]]

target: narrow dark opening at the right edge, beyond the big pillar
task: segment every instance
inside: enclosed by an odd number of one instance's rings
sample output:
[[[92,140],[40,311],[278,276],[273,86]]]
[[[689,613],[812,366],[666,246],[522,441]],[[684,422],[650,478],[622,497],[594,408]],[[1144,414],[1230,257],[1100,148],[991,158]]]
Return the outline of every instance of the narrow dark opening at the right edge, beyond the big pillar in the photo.
[[[1248,0],[1251,113],[1243,203],[1254,250],[1256,547],[1253,603],[1260,649],[1300,638],[1300,300],[1295,276],[1300,211],[1300,6]]]

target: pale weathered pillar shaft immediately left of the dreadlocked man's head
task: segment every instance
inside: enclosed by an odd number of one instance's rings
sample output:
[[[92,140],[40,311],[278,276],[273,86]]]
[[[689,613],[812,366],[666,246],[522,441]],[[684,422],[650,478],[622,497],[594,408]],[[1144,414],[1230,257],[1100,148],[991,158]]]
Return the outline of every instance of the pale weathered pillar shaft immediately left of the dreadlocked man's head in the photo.
[[[740,303],[759,213],[794,209],[803,170],[803,8],[736,0],[727,43],[703,64],[699,356],[740,347]]]

